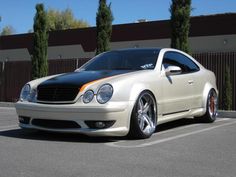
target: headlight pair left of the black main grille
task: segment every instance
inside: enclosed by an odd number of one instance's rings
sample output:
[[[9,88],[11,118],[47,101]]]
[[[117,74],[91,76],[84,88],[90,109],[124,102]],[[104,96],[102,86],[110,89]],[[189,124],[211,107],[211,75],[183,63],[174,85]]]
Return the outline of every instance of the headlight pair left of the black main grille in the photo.
[[[37,90],[32,89],[29,84],[26,84],[20,93],[20,101],[34,102],[37,97]]]

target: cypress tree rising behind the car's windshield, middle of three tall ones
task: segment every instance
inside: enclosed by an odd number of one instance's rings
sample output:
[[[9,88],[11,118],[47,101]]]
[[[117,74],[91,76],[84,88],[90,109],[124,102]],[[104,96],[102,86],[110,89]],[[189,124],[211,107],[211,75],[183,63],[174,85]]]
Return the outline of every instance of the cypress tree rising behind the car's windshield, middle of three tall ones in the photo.
[[[113,15],[111,3],[106,4],[106,0],[99,0],[99,7],[96,16],[97,25],[97,51],[96,54],[110,50],[109,42],[112,34]]]

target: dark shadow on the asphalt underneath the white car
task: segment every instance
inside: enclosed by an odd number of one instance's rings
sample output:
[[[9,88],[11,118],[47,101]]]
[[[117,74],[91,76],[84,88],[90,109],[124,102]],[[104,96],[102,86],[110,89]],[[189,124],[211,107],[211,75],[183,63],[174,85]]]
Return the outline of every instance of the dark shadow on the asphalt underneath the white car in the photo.
[[[194,119],[184,118],[165,124],[158,125],[155,134],[168,129],[182,127],[190,124],[199,123]],[[83,134],[76,133],[54,133],[30,129],[14,129],[1,131],[0,136],[26,139],[26,140],[40,140],[40,141],[58,141],[58,142],[80,142],[80,143],[108,143],[122,140],[135,140],[128,136],[126,137],[90,137]]]

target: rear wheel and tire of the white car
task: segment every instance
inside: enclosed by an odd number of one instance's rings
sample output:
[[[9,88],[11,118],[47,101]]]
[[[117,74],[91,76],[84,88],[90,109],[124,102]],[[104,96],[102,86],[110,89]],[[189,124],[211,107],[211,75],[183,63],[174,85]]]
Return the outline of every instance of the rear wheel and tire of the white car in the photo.
[[[216,120],[218,97],[215,90],[211,89],[207,96],[206,113],[199,117],[202,122],[212,123]]]

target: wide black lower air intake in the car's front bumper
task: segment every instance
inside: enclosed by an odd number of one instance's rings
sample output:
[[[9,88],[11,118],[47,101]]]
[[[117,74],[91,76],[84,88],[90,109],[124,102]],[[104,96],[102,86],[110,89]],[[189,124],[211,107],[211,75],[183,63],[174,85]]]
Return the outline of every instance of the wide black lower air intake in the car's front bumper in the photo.
[[[76,122],[68,120],[33,119],[32,125],[53,129],[81,128]]]

